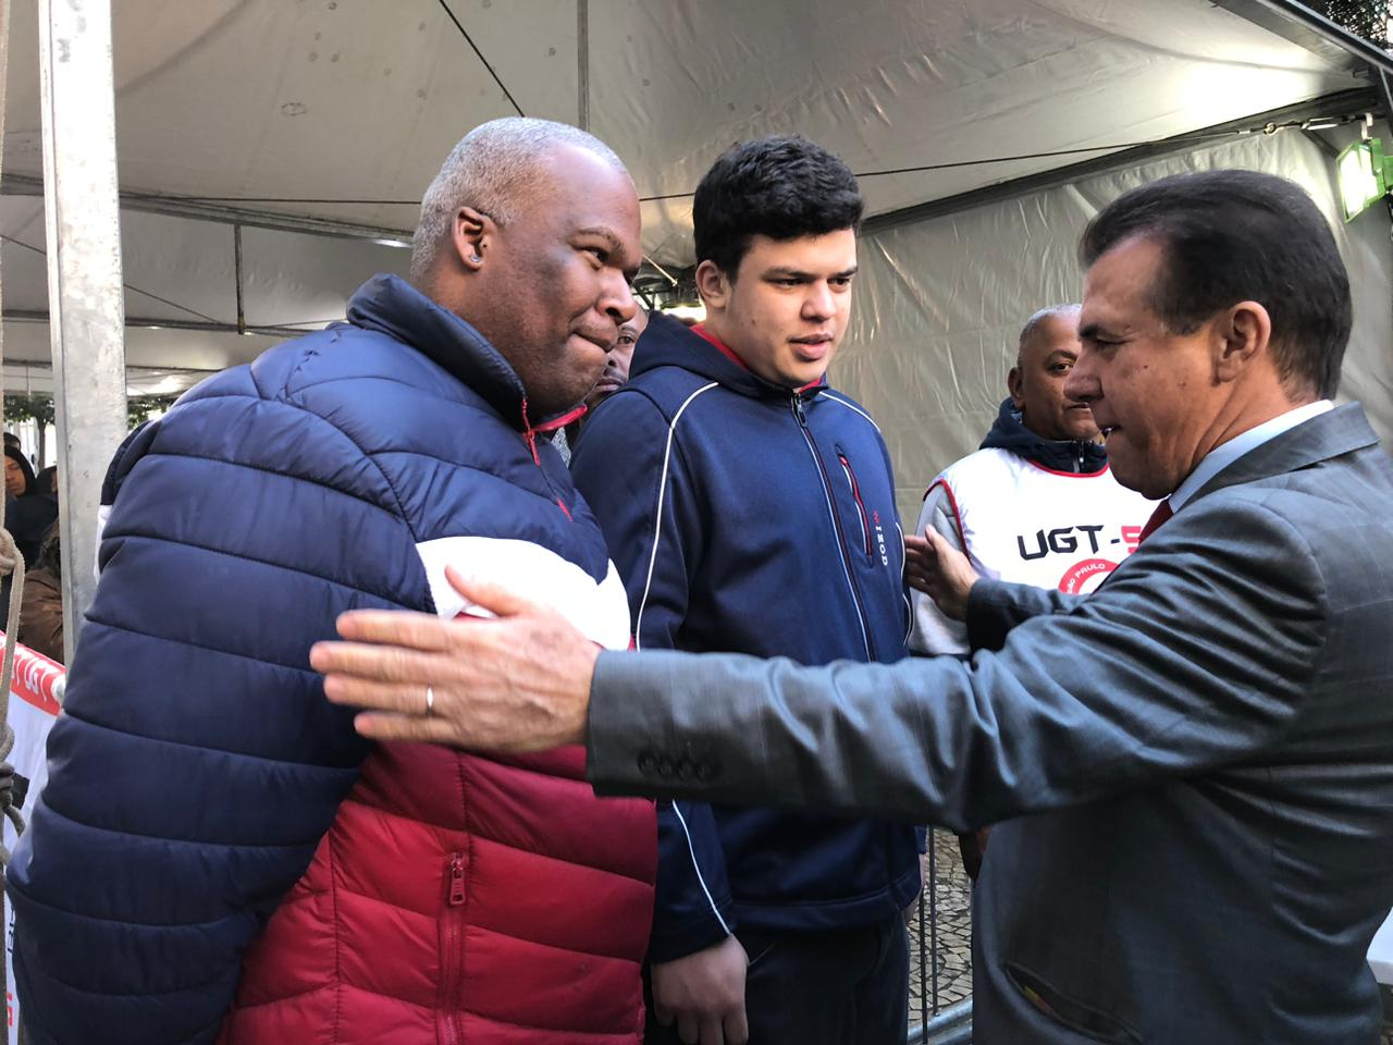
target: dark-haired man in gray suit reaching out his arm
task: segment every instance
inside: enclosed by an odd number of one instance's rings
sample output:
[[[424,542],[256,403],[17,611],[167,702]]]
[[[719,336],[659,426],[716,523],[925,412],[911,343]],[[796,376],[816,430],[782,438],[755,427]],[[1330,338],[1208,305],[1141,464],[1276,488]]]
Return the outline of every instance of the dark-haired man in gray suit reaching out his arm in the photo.
[[[378,709],[372,737],[584,738],[610,794],[999,823],[979,1042],[1372,1044],[1393,461],[1329,403],[1350,332],[1334,241],[1295,185],[1211,171],[1123,196],[1081,256],[1068,394],[1119,481],[1169,497],[1091,596],[978,581],[957,606],[971,662],[808,669],[598,653],[457,578],[503,619],[345,614],[355,641],[313,656],[327,695]],[[940,550],[921,568],[953,609]]]

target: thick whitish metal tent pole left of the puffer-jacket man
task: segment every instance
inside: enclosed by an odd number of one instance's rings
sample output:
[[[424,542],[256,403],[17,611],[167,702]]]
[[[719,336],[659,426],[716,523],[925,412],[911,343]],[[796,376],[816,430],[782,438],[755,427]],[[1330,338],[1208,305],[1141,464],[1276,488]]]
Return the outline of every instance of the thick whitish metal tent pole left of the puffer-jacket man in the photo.
[[[125,438],[110,0],[39,0],[43,213],[57,407],[63,647],[96,592],[98,506]]]

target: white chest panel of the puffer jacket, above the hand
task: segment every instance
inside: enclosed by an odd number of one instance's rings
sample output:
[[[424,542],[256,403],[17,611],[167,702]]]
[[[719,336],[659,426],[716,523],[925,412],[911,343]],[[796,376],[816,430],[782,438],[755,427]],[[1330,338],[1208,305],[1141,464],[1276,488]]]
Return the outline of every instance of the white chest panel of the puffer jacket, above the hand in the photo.
[[[628,649],[628,596],[614,563],[595,582],[585,570],[549,548],[499,536],[442,536],[417,545],[426,570],[436,613],[453,620],[460,613],[493,614],[467,602],[446,580],[444,567],[511,588],[532,602],[550,606],[584,635],[606,649]]]

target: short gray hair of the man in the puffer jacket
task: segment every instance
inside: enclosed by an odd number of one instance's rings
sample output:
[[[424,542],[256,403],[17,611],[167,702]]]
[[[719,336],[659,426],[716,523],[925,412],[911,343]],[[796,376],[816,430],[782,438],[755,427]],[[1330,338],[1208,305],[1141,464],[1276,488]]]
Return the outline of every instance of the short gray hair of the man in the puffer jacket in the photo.
[[[578,127],[508,116],[479,124],[446,156],[421,198],[421,222],[411,240],[411,281],[422,286],[435,268],[454,215],[472,206],[500,226],[531,205],[540,183],[540,160],[556,145],[574,145],[627,173],[614,150]]]

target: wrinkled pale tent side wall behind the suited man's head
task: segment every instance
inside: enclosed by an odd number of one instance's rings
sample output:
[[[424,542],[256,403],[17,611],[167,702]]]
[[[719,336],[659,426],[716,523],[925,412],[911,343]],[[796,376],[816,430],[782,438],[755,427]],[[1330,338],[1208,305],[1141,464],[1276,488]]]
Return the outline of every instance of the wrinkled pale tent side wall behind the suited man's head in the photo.
[[[910,525],[929,481],[990,428],[1021,325],[1043,305],[1080,298],[1075,245],[1085,223],[1127,189],[1212,167],[1293,178],[1330,219],[1354,294],[1341,398],[1361,400],[1393,447],[1387,213],[1376,208],[1344,224],[1334,164],[1309,138],[1241,138],[862,240],[851,327],[832,379],[885,432]]]

